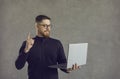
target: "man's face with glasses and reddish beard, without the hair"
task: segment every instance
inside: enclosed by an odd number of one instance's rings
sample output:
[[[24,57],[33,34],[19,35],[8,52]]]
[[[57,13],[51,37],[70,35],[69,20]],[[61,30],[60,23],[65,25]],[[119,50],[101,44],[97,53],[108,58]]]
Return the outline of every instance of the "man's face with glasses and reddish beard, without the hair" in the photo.
[[[38,34],[44,37],[50,36],[51,22],[49,19],[44,19],[42,22],[37,23]]]

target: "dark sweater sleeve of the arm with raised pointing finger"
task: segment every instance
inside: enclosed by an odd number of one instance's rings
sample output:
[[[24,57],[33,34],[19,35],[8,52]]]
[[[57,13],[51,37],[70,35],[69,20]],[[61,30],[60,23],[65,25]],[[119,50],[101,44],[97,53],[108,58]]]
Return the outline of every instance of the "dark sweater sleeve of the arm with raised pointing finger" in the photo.
[[[28,53],[24,52],[25,49],[25,45],[26,45],[26,41],[23,42],[20,50],[19,50],[19,55],[15,61],[15,66],[18,70],[22,69],[26,63],[27,57],[28,57]]]

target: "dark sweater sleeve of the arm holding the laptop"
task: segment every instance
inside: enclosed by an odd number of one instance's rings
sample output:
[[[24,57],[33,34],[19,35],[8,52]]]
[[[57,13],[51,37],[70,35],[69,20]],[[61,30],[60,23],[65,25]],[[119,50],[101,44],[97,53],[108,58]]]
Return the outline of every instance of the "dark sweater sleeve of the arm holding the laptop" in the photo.
[[[67,63],[66,56],[65,56],[65,53],[64,53],[64,48],[63,48],[62,43],[60,41],[59,41],[57,61],[58,61],[58,64]],[[60,70],[62,70],[65,73],[69,73],[69,72],[67,72],[67,68],[66,69],[60,69]]]

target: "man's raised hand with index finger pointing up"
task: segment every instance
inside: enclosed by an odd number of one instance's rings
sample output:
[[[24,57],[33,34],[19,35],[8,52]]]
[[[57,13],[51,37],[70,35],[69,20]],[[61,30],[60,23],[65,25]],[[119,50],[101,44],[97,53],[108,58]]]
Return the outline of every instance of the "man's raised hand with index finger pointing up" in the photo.
[[[33,44],[34,44],[34,39],[31,38],[30,33],[29,33],[27,36],[26,46],[25,46],[24,52],[28,53],[29,50],[32,48]]]

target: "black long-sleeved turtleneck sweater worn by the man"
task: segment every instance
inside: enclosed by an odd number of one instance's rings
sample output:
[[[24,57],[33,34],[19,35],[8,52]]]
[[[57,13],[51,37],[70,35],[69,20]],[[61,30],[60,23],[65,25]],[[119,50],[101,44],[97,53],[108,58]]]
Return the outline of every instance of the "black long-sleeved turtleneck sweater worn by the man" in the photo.
[[[58,79],[57,68],[48,66],[66,63],[64,49],[59,40],[45,37],[34,37],[33,47],[28,53],[24,52],[26,41],[23,42],[15,62],[17,69],[22,69],[28,62],[29,79]],[[64,69],[61,69],[67,72]]]

